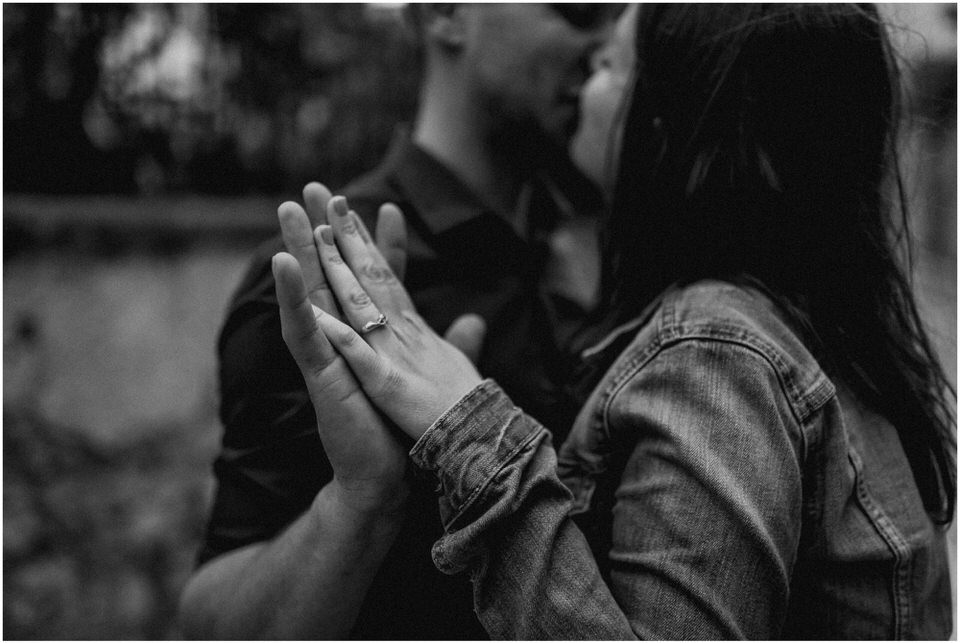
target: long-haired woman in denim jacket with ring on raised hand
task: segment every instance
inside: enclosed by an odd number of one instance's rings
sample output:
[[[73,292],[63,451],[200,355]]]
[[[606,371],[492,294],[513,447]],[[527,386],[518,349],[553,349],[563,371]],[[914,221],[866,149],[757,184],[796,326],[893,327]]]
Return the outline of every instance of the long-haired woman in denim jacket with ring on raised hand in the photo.
[[[606,54],[573,152],[615,177],[609,332],[559,453],[368,278],[385,263],[342,199],[317,248],[352,329],[274,262],[308,385],[341,355],[417,440],[434,561],[470,569],[494,637],[948,636],[953,419],[892,247],[875,10],[641,5]]]

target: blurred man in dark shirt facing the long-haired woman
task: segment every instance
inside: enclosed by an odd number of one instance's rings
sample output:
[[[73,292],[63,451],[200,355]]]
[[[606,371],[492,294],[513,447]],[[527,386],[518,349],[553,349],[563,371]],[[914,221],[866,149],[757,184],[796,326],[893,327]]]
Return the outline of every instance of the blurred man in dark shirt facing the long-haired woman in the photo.
[[[412,136],[344,192],[370,229],[381,203],[400,206],[405,283],[420,313],[440,331],[463,313],[480,315],[479,370],[563,434],[576,404],[561,384],[562,315],[540,287],[547,252],[537,243],[537,230],[555,222],[529,186],[565,158],[588,57],[614,12],[574,4],[413,11],[426,67]],[[341,216],[329,198],[311,184],[307,211],[285,204],[280,216],[301,229],[308,215],[313,223],[327,211]],[[314,414],[280,334],[269,261],[280,249],[275,239],[257,253],[221,333],[223,451],[201,566],[182,598],[186,633],[486,638],[468,580],[431,562],[437,496],[406,467],[411,445],[365,433],[378,424],[370,418],[351,430],[377,441],[382,457],[358,459],[363,451],[349,439],[330,437],[342,418]]]

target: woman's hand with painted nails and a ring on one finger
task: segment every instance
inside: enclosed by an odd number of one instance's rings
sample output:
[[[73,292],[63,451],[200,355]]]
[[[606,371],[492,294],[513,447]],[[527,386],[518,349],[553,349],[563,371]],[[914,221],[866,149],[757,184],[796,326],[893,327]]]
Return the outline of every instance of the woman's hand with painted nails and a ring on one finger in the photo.
[[[391,205],[381,208],[384,216],[402,217]],[[407,435],[418,439],[481,377],[463,352],[441,339],[416,313],[346,199],[330,200],[327,220],[330,225],[315,231],[316,247],[326,283],[346,323],[323,312],[287,312],[287,344],[305,374],[314,374],[317,387],[335,384],[333,371],[327,370],[334,359],[332,344],[370,400]],[[479,317],[466,316],[451,327],[448,336],[478,347],[482,330]],[[298,337],[306,341],[296,341]]]

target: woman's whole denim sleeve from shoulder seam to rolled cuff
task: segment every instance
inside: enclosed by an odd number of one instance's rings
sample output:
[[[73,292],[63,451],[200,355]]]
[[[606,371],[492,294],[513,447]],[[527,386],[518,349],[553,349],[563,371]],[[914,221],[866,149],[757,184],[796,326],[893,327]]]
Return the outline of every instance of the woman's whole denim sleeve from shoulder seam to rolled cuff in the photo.
[[[470,568],[494,638],[774,638],[800,532],[798,424],[749,347],[684,341],[611,398],[631,451],[604,579],[568,517],[549,433],[486,382],[411,455],[437,472],[434,561]]]

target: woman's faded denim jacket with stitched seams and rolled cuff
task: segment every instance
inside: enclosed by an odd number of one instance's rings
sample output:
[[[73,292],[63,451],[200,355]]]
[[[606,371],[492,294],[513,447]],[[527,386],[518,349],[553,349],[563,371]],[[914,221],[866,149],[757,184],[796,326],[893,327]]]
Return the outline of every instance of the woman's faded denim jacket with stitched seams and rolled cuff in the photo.
[[[470,570],[491,636],[949,636],[945,533],[894,427],[770,299],[668,291],[592,354],[623,338],[559,454],[489,380],[411,451],[440,480],[434,562]]]

